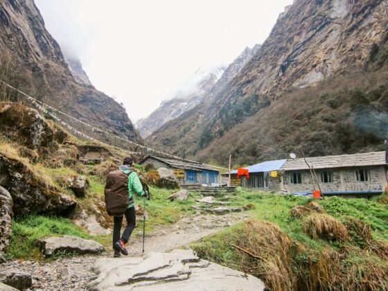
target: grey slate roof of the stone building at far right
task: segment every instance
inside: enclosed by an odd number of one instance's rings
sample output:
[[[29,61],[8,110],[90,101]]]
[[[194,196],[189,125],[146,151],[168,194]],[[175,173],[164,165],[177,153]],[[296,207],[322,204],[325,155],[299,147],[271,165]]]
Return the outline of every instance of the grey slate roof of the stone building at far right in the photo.
[[[306,157],[306,161],[315,169],[388,165],[386,152],[367,152],[355,155],[326,157]],[[303,158],[288,159],[281,169],[308,170],[308,165]]]

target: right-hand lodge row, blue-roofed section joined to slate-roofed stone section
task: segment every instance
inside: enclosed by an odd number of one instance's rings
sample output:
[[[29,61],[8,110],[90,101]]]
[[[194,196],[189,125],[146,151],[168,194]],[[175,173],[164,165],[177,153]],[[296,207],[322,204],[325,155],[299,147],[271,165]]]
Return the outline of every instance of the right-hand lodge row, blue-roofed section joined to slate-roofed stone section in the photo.
[[[245,167],[249,179],[238,178],[237,170],[233,170],[232,185],[303,195],[318,190],[318,182],[324,195],[369,196],[382,193],[388,183],[387,152],[306,157],[306,161],[281,159]]]

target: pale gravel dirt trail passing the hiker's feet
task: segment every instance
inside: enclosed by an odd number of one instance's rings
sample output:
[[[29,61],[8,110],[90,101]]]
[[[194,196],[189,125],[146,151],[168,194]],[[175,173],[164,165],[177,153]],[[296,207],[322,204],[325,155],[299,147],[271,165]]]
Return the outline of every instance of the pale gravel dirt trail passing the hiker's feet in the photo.
[[[200,240],[204,236],[230,227],[247,217],[247,213],[186,216],[170,226],[158,227],[146,236],[144,254],[164,252]],[[140,227],[134,229],[130,243],[127,244],[129,256],[141,256],[142,231]],[[113,256],[112,249],[106,251],[98,256],[60,258],[51,262],[12,261],[2,264],[1,269],[31,274],[33,276],[32,290],[86,290],[87,283],[96,278],[96,274],[91,271],[94,262],[101,257]]]

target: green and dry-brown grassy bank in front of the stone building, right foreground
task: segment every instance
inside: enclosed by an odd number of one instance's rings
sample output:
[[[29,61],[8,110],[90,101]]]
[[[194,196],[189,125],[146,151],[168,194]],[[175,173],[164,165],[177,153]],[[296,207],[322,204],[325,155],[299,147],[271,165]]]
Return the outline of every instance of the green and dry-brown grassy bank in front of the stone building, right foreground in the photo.
[[[326,213],[345,225],[358,218],[371,227],[370,240],[349,231],[351,239],[340,243],[312,239],[303,232],[303,218],[292,217],[290,210],[308,202],[305,197],[240,190],[234,204],[254,204],[250,211],[254,220],[204,238],[192,247],[202,258],[258,276],[272,290],[387,288],[388,205],[339,197],[319,201]]]

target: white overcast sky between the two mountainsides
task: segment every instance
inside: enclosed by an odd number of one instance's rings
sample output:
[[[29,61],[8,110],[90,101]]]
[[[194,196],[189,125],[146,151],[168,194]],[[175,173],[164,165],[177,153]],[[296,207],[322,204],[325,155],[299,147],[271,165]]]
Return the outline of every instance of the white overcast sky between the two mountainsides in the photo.
[[[132,122],[172,98],[198,68],[261,44],[292,0],[35,0],[46,28]]]

